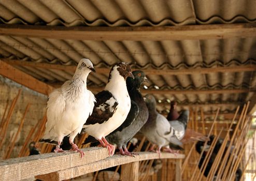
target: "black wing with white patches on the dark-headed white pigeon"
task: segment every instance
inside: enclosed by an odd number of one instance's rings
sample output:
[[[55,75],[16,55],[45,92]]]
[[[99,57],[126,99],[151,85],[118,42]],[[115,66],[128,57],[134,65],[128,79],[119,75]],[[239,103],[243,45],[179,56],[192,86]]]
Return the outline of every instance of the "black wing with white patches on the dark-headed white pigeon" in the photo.
[[[109,91],[103,90],[96,94],[95,98],[96,103],[93,112],[84,125],[102,124],[112,117],[117,110],[117,99]]]

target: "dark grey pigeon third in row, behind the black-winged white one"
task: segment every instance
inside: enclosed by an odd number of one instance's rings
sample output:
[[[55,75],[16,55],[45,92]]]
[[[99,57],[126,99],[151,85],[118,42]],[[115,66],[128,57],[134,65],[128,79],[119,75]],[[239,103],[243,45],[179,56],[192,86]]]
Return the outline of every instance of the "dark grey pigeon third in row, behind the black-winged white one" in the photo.
[[[134,79],[127,78],[126,80],[127,89],[132,102],[131,110],[124,123],[116,129],[114,133],[106,137],[110,143],[117,145],[121,155],[130,156],[132,156],[133,153],[127,150],[127,142],[143,127],[149,115],[147,105],[140,93],[140,86],[144,81],[147,81],[147,78],[145,73],[140,70],[133,71],[133,75]]]

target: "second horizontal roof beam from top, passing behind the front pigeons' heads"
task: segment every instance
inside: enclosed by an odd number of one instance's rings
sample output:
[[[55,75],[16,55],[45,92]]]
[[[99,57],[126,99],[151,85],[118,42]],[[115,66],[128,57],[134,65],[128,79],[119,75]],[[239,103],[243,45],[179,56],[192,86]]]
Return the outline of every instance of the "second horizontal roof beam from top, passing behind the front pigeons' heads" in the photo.
[[[2,58],[3,61],[10,65],[16,66],[25,66],[25,67],[36,67],[36,68],[44,68],[44,69],[56,69],[56,70],[65,70],[65,71],[73,71],[75,72],[76,66],[65,66],[65,65],[57,65],[57,64],[48,64],[48,63],[35,63],[35,62],[26,62],[26,61],[18,61],[11,60],[8,58]],[[134,70],[138,70],[136,67]],[[208,74],[208,73],[216,73],[216,72],[244,72],[244,71],[256,71],[256,65],[239,65],[239,66],[231,66],[231,67],[212,67],[212,68],[189,68],[189,69],[140,69],[143,70],[146,74],[150,75],[169,75],[169,76],[177,76],[183,74]],[[96,68],[97,73],[109,73],[109,68]]]

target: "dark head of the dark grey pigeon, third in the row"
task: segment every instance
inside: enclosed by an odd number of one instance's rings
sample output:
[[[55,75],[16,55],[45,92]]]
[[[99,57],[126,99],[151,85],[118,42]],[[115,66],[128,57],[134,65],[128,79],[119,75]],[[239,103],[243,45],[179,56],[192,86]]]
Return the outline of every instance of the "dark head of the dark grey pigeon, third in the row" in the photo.
[[[126,79],[127,85],[131,86],[131,88],[133,87],[139,88],[144,81],[148,82],[148,79],[143,71],[135,70],[132,73],[133,73],[134,79],[130,77]]]

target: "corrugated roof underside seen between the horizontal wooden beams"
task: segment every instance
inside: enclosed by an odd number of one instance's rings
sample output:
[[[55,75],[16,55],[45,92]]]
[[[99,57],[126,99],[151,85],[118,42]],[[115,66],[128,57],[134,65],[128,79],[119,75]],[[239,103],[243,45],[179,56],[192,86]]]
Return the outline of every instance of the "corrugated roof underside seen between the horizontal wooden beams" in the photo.
[[[0,23],[42,26],[184,26],[256,22],[256,1],[0,1]],[[133,69],[232,67],[256,65],[256,38],[161,41],[94,41],[0,36],[2,58],[20,61],[76,65],[89,58],[95,67],[126,62]],[[61,84],[74,71],[14,65],[49,84]],[[255,71],[200,72],[193,74],[148,74],[148,90],[249,89],[256,87]],[[88,84],[103,87],[107,73],[93,73]],[[254,92],[226,94],[158,94],[158,110],[167,111],[169,100],[179,104],[225,103],[204,106],[204,112],[234,112],[237,104],[250,100]],[[182,109],[182,107],[180,108]]]

